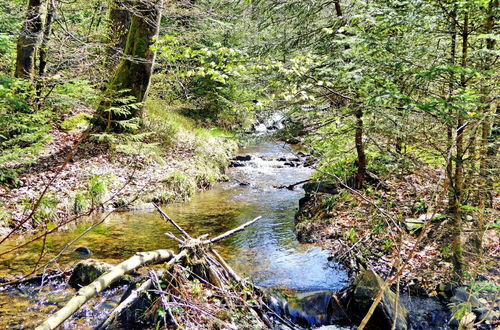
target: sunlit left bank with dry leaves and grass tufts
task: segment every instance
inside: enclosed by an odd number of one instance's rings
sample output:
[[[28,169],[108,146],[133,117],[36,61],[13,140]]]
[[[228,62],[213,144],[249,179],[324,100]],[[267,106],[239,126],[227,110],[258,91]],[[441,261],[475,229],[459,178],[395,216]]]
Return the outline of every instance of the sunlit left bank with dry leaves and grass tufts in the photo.
[[[24,230],[60,224],[93,209],[141,209],[151,207],[150,202],[183,201],[224,179],[237,149],[234,140],[186,123],[182,118],[172,129],[168,146],[152,143],[144,150],[137,147],[142,142],[133,141],[102,143],[87,137],[78,143],[82,130],[54,127],[50,142],[21,169],[16,184],[0,185],[0,234],[23,222],[46,188]]]

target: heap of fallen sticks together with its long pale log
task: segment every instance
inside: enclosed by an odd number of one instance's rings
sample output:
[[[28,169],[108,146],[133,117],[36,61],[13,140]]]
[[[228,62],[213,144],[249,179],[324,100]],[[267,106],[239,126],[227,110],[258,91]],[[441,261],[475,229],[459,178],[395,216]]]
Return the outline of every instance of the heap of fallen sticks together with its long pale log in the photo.
[[[156,206],[156,205],[155,205]],[[156,206],[157,207],[157,206]],[[84,303],[86,303],[90,298],[92,298],[97,293],[103,291],[110,284],[119,280],[126,273],[133,271],[146,263],[151,262],[164,262],[169,261],[166,265],[165,276],[162,277],[162,281],[167,285],[169,290],[177,292],[177,294],[183,295],[185,299],[176,297],[172,292],[167,292],[164,290],[160,284],[160,279],[156,273],[151,273],[151,278],[146,280],[139,289],[135,290],[129,297],[127,297],[120,305],[115,308],[114,311],[108,316],[108,318],[101,323],[97,329],[109,328],[116,318],[127,309],[142,292],[150,290],[160,294],[161,305],[163,305],[164,312],[168,314],[167,320],[165,313],[163,313],[163,322],[167,324],[171,322],[176,325],[179,324],[177,321],[182,323],[191,322],[193,318],[199,317],[201,314],[210,317],[212,320],[217,322],[225,323],[222,319],[217,317],[217,313],[210,313],[203,311],[203,303],[206,302],[196,302],[197,296],[189,295],[190,290],[183,290],[182,286],[187,285],[189,287],[189,281],[186,278],[186,272],[191,272],[194,277],[200,279],[203,283],[211,285],[211,288],[217,292],[218,299],[221,299],[223,306],[225,307],[215,307],[216,311],[227,313],[234,308],[245,310],[247,315],[247,321],[255,323],[260,328],[265,328],[267,325],[270,327],[271,319],[266,315],[265,312],[260,311],[260,308],[264,307],[262,304],[258,306],[253,306],[252,304],[243,303],[246,300],[261,301],[260,297],[262,293],[260,290],[253,288],[251,283],[241,279],[241,277],[236,274],[236,272],[231,269],[231,267],[224,261],[224,259],[212,248],[212,244],[216,243],[230,235],[244,230],[248,226],[255,223],[261,217],[257,217],[247,223],[240,225],[237,228],[229,230],[215,238],[210,239],[207,234],[201,235],[198,238],[192,238],[185,230],[183,230],[179,225],[177,225],[167,214],[157,207],[160,214],[165,218],[165,220],[171,222],[182,234],[181,238],[176,237],[172,233],[166,233],[166,235],[179,243],[180,252],[174,255],[168,250],[157,250],[152,252],[138,253],[132,258],[120,263],[119,265],[113,267],[109,272],[103,274],[90,285],[80,289],[78,293],[58,312],[49,317],[43,324],[41,324],[36,330],[45,329],[55,329],[61,325],[66,319],[68,319],[74,312],[76,312]],[[183,259],[185,267],[178,263]],[[172,267],[175,263],[179,264],[180,268]],[[181,269],[181,271],[179,270]],[[189,271],[188,271],[189,269]],[[241,292],[241,287],[250,287],[249,291],[243,290]],[[156,290],[154,290],[156,287]],[[187,295],[187,296],[186,296]],[[248,296],[250,295],[250,296]],[[170,298],[169,298],[170,297]],[[174,298],[175,297],[175,298]],[[171,300],[173,299],[173,300]],[[189,299],[194,299],[194,303],[190,303]],[[158,308],[158,304],[156,303]],[[178,312],[171,309],[172,306],[180,307],[183,311]],[[200,306],[200,307],[198,307]],[[210,306],[210,305],[208,305]],[[186,308],[191,309],[191,311],[186,310]],[[210,307],[206,307],[210,308]],[[227,308],[224,311],[224,308]],[[255,310],[254,310],[255,309]],[[192,313],[195,311],[195,313]],[[256,313],[256,312],[259,313]],[[241,310],[240,310],[241,312]],[[258,315],[257,315],[258,314]],[[243,316],[242,316],[243,317]],[[249,318],[248,318],[249,317]],[[199,320],[198,320],[199,322]],[[203,321],[201,321],[203,322]],[[195,322],[195,324],[198,324]]]

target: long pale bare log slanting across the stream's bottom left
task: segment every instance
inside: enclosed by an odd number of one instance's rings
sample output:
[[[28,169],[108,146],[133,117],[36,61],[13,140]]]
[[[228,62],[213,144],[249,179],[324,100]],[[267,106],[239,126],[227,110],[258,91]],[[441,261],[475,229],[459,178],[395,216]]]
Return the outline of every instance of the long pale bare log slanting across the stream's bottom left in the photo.
[[[109,272],[98,277],[94,282],[78,290],[77,294],[71,298],[68,303],[49,317],[45,322],[36,328],[36,330],[51,330],[60,326],[67,318],[73,315],[85,302],[97,293],[103,291],[108,286],[118,281],[123,275],[134,271],[135,269],[147,263],[159,263],[171,260],[174,254],[170,250],[156,250],[151,252],[136,253],[130,259],[127,259]]]

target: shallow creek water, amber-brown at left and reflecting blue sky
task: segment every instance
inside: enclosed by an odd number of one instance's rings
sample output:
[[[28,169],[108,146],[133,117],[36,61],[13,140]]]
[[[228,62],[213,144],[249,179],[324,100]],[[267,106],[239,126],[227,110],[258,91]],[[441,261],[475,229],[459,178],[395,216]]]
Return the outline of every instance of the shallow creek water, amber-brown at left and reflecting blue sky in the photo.
[[[163,210],[192,236],[205,233],[215,236],[262,216],[254,225],[216,246],[236,271],[259,286],[292,290],[297,297],[342,288],[347,274],[338,265],[328,262],[327,251],[301,244],[295,237],[293,219],[303,191],[276,188],[309,178],[311,170],[278,161],[279,158],[295,157],[290,146],[279,142],[260,142],[242,149],[241,154],[251,155],[252,159],[242,162],[243,167],[230,168],[227,173],[230,181],[196,194],[189,202],[164,206]],[[59,252],[87,226],[82,223],[47,238],[45,258]],[[167,231],[175,233],[156,212],[116,213],[68,249],[59,259],[59,265],[77,262],[79,256],[71,251],[78,246],[88,247],[93,252],[92,258],[111,263],[122,261],[137,251],[176,249],[177,244],[164,235]],[[7,248],[9,246],[5,245],[0,250]],[[41,242],[0,260],[0,275],[28,273],[40,248]],[[72,293],[62,286],[41,291],[32,287],[0,291],[0,328],[30,327],[61,307]],[[119,292],[97,299],[101,299],[95,302],[100,306],[98,309],[105,314],[116,304]],[[87,309],[82,313],[91,315],[96,311]],[[88,326],[75,322],[69,322],[66,327]]]

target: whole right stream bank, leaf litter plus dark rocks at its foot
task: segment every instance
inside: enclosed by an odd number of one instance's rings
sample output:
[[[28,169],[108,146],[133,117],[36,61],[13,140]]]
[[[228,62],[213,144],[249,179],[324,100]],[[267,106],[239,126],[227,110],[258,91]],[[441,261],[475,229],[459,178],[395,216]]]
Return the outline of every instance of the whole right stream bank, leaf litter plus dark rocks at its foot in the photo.
[[[435,174],[428,168],[425,170],[430,177]],[[343,264],[356,278],[349,289],[351,299],[348,299],[348,304],[352,306],[354,301],[359,310],[350,309],[351,315],[357,316],[357,322],[361,321],[370,307],[362,302],[373,301],[383,284],[382,278],[394,275],[394,263],[399,258],[408,258],[413,246],[419,242],[418,235],[423,224],[427,222],[430,229],[402,272],[398,286],[395,283],[390,286],[392,292],[399,287],[399,300],[402,302],[399,310],[404,308],[409,312],[407,326],[400,327],[398,321],[396,328],[455,329],[459,324],[463,328],[473,324],[475,328],[495,328],[500,312],[496,297],[498,285],[495,284],[498,283],[498,272],[493,266],[496,253],[494,230],[487,231],[485,236],[485,246],[492,253],[485,256],[490,259],[489,268],[475,268],[479,260],[471,259],[473,255],[468,254],[469,266],[473,271],[479,271],[466,284],[454,283],[450,277],[450,256],[441,249],[451,244],[444,230],[450,226],[451,220],[442,215],[445,214],[443,205],[433,214],[426,213],[415,202],[425,201],[428,191],[432,191],[433,182],[422,181],[419,176],[409,174],[392,179],[386,177],[383,181],[377,177],[376,183],[361,190],[360,195],[331,178],[309,182],[304,185],[305,196],[300,200],[299,211],[295,215],[299,240],[321,244],[330,250],[330,260]],[[369,201],[378,203],[377,207],[382,211]],[[399,207],[394,208],[395,204]],[[386,214],[380,215],[380,212]],[[391,222],[394,219],[402,229],[400,236],[396,233],[396,225]],[[471,225],[472,221],[469,221],[467,226]],[[397,246],[402,247],[399,250]],[[367,272],[374,275],[367,277]],[[363,294],[356,298],[359,288],[362,288]],[[394,296],[389,291],[386,294]],[[391,306],[390,300],[393,299],[388,297],[382,299],[377,307],[378,316],[373,316],[377,322],[372,325],[380,329],[390,327],[391,322],[388,325],[379,321],[393,320],[390,315],[394,311],[391,309],[397,310]]]

